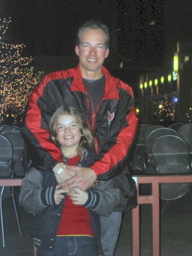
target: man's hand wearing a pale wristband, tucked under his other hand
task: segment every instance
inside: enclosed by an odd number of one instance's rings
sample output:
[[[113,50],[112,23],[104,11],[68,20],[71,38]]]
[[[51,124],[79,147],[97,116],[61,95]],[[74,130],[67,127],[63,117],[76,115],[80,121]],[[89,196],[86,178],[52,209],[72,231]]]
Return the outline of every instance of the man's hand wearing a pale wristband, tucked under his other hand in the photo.
[[[53,168],[53,173],[57,173],[59,169],[64,167],[64,162],[58,162],[57,165]],[[75,175],[75,172],[73,170],[69,170],[67,168],[67,165],[65,165],[64,170],[61,171],[58,175],[55,176],[58,183],[64,182],[68,180],[69,178],[72,178]]]

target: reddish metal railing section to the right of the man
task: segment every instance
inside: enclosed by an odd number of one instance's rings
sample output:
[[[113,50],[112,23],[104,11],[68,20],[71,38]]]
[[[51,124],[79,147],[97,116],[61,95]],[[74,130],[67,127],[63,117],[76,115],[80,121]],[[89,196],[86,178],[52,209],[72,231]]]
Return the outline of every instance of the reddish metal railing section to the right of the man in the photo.
[[[192,175],[172,176],[134,176],[137,182],[138,206],[132,210],[132,255],[140,256],[140,216],[139,205],[152,205],[152,255],[160,256],[160,189],[161,183],[188,183],[192,182]],[[151,195],[139,195],[139,184],[151,184]]]

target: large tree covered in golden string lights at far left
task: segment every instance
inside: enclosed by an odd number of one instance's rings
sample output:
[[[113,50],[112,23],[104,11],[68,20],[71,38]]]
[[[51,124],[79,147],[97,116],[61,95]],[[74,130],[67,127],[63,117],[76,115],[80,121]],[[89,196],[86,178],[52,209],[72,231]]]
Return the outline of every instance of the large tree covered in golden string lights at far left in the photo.
[[[0,18],[0,123],[20,125],[31,91],[39,83],[42,72],[34,74],[32,57],[26,57],[26,45],[6,42],[11,19]]]

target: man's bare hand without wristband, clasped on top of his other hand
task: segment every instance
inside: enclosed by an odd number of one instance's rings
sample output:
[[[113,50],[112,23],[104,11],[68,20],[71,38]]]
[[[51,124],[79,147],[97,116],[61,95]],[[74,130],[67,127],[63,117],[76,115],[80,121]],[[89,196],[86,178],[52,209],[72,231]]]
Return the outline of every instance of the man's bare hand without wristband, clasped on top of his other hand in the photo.
[[[75,175],[61,183],[62,189],[77,187],[85,191],[96,181],[96,173],[89,167],[66,165],[65,169],[74,172]]]

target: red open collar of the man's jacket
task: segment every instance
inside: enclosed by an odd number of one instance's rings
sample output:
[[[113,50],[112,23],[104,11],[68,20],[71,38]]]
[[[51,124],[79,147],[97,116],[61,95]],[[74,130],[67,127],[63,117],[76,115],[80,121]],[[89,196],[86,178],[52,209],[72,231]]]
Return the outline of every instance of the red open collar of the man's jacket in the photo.
[[[102,66],[102,73],[106,78],[103,100],[119,99],[118,89],[116,87],[116,83],[119,79],[113,78],[104,66]],[[84,91],[85,93],[88,93],[82,80],[80,64],[78,64],[77,68],[74,69],[74,80],[72,82],[71,91]]]

